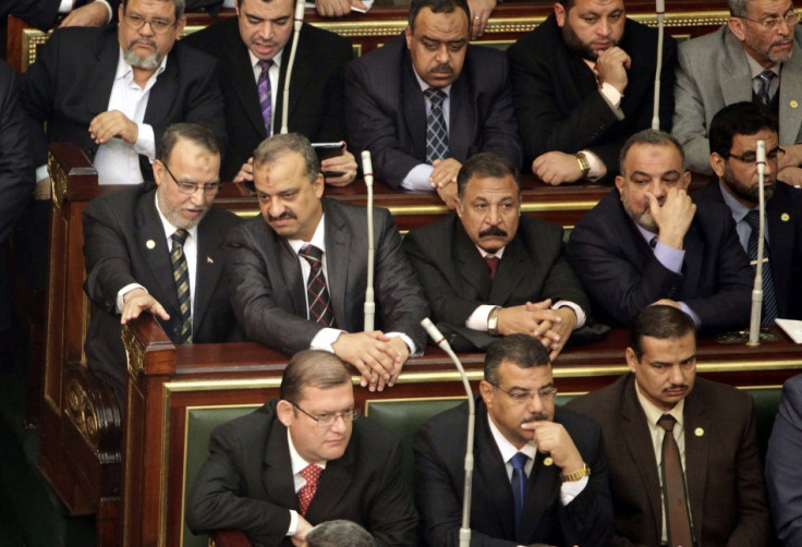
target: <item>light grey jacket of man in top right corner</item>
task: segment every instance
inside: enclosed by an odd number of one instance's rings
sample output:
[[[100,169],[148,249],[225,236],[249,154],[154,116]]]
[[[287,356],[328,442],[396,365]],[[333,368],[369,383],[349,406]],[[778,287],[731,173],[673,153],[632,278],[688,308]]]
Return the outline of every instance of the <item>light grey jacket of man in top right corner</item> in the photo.
[[[727,105],[752,100],[752,71],[746,52],[727,25],[682,42],[675,87],[673,136],[685,150],[685,168],[713,174],[707,129]],[[793,54],[782,63],[779,88],[780,144],[802,142],[802,28],[793,32]],[[791,106],[794,105],[794,106]]]

